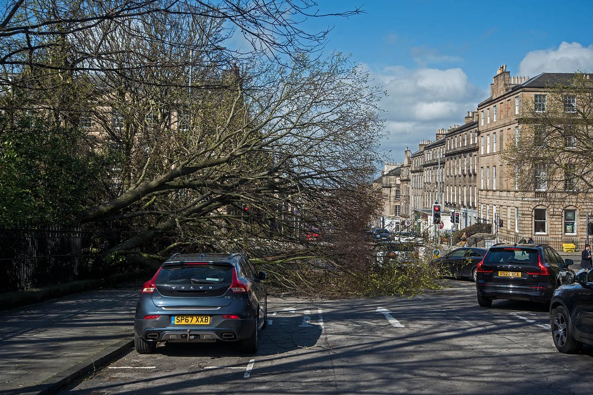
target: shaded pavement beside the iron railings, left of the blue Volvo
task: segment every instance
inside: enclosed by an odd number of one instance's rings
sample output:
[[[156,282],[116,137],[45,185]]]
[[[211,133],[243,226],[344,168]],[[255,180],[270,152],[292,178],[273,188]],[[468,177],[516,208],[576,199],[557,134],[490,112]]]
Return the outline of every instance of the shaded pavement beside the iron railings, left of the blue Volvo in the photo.
[[[0,311],[0,394],[55,393],[133,349],[143,280],[107,282],[104,288]],[[61,293],[79,292],[80,286],[62,284]],[[55,288],[24,291],[21,297],[52,297]],[[17,294],[0,294],[0,306],[10,306]]]

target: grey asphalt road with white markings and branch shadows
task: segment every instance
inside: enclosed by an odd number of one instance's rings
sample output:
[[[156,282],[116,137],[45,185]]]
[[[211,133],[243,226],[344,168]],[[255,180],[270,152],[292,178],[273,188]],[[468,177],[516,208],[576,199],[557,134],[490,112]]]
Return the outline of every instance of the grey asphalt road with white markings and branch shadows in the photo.
[[[554,348],[546,306],[474,284],[407,298],[269,300],[260,351],[177,344],[130,351],[60,391],[90,394],[585,394],[593,348]]]

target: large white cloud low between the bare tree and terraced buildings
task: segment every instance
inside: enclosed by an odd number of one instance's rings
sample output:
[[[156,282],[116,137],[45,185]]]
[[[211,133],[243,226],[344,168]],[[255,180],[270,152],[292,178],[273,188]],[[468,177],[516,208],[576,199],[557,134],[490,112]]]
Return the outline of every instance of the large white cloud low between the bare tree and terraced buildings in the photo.
[[[401,161],[406,147],[417,151],[420,140],[435,140],[437,129],[463,124],[467,111],[489,93],[472,85],[459,68],[388,66],[371,75],[388,94],[381,102],[388,112],[381,149],[390,161]]]

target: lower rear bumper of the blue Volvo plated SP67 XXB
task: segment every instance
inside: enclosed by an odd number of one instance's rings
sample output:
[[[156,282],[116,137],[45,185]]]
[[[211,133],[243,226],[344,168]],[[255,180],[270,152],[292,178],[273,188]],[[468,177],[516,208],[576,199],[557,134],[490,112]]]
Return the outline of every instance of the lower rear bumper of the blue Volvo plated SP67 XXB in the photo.
[[[170,316],[135,319],[134,331],[145,340],[167,342],[215,342],[249,338],[256,329],[256,319],[224,319],[212,316],[211,325],[171,325]]]

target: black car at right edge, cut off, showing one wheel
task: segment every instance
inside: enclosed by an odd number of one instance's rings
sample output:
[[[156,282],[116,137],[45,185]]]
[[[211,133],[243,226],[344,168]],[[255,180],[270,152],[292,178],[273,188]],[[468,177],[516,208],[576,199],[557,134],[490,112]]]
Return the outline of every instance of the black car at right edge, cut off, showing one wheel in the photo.
[[[550,326],[554,345],[560,352],[576,354],[583,344],[593,345],[593,271],[579,271],[576,283],[554,291]]]

